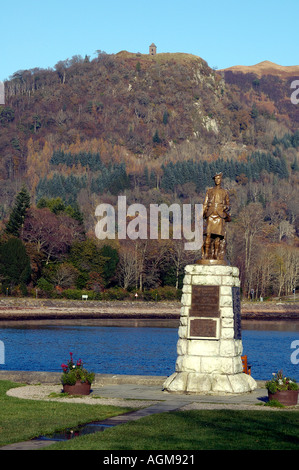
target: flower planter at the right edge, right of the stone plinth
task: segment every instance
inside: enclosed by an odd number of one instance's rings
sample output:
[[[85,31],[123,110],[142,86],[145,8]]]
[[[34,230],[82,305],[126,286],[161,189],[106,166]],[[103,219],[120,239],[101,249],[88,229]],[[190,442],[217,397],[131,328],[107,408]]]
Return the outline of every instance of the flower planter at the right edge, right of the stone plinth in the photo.
[[[277,400],[282,405],[294,406],[298,403],[299,386],[295,380],[285,377],[282,370],[273,374],[273,378],[266,382],[269,400]]]

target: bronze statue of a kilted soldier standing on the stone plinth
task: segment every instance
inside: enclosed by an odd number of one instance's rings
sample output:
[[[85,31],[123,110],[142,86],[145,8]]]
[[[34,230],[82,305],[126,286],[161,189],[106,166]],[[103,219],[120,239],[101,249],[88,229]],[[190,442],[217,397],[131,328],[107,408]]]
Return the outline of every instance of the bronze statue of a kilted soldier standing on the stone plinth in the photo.
[[[206,238],[202,249],[204,260],[224,260],[226,249],[225,223],[229,222],[229,196],[221,187],[222,173],[213,177],[215,186],[209,188],[203,203],[203,218],[206,219]]]

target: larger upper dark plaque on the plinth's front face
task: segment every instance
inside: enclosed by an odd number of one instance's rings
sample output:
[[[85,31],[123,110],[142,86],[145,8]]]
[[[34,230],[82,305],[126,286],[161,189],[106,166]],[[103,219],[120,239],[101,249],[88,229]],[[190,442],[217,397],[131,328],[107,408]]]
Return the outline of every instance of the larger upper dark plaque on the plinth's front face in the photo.
[[[190,317],[219,317],[219,286],[192,286]]]

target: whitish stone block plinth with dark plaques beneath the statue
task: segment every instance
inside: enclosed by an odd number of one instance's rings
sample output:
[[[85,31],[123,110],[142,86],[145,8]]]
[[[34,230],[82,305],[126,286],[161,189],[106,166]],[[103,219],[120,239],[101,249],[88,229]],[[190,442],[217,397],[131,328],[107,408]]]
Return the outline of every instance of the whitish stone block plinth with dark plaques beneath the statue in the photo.
[[[238,268],[186,266],[178,335],[175,372],[165,391],[234,394],[257,387],[243,373]]]

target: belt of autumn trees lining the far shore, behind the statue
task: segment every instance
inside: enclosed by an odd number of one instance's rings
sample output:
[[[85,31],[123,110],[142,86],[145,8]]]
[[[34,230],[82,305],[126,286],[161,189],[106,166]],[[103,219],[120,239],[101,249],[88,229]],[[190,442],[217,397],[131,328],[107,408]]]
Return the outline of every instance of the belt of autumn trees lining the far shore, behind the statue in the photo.
[[[244,298],[252,292],[255,298],[289,295],[298,286],[298,194],[286,182],[270,185],[269,175],[263,178],[263,185],[225,180],[232,204],[227,255],[240,269]],[[180,197],[200,202],[194,188],[185,191],[181,186],[178,194],[178,202]],[[159,199],[144,202],[161,203],[162,195],[157,192]],[[134,201],[133,196],[128,193],[129,200]],[[168,204],[171,197],[164,201]],[[185,250],[184,240],[172,239],[171,233],[167,240],[97,240],[92,231],[86,235],[77,206],[59,197],[41,198],[35,205],[25,187],[16,197],[0,248],[2,290],[25,292],[27,286],[44,295],[65,292],[76,298],[82,289],[98,298],[119,288],[122,296],[128,292],[146,296],[166,286],[179,292],[184,267],[199,258],[199,253]],[[119,296],[118,292],[113,295]]]

